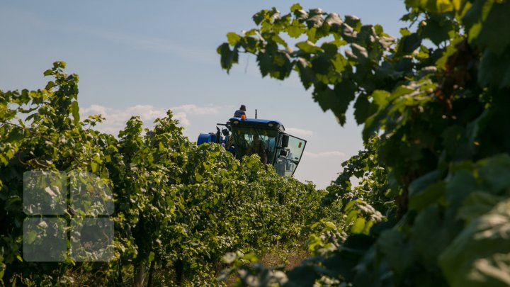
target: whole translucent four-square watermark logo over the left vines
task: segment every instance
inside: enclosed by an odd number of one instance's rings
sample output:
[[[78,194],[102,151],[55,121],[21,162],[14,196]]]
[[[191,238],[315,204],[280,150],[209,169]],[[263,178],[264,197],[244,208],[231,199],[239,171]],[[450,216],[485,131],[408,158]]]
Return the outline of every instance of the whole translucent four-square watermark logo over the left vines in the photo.
[[[68,254],[75,261],[112,259],[113,220],[98,217],[114,211],[104,179],[85,171],[28,171],[23,174],[23,211],[28,215],[23,223],[26,261],[64,261]]]

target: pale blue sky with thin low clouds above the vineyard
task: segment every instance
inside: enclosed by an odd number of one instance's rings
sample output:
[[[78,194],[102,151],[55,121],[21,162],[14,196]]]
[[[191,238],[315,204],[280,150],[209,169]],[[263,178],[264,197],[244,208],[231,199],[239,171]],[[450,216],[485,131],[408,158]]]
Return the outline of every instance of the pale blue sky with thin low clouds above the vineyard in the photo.
[[[118,133],[131,115],[150,125],[171,108],[195,141],[215,131],[244,103],[248,116],[280,120],[305,138],[295,177],[324,188],[341,162],[362,148],[361,127],[351,115],[344,128],[324,113],[299,79],[262,78],[254,57],[240,57],[227,74],[218,45],[228,32],[254,28],[251,16],[293,1],[0,1],[0,89],[38,89],[52,62],[67,62],[80,76],[81,113],[102,113],[101,130]],[[364,24],[379,23],[398,35],[402,0],[299,1]]]

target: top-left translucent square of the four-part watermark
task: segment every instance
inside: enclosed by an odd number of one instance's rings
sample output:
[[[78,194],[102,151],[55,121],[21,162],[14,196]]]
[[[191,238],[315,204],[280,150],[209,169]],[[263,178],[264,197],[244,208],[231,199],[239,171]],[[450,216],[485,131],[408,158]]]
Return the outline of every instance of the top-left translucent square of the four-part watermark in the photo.
[[[63,215],[67,209],[67,176],[60,171],[23,174],[23,212],[27,215]]]

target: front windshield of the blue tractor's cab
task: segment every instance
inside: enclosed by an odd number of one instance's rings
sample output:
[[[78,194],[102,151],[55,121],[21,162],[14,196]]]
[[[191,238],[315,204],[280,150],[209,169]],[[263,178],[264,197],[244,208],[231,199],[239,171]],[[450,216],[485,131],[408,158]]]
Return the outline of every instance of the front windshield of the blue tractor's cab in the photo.
[[[273,162],[276,150],[277,130],[261,128],[232,129],[237,159],[245,155],[259,154],[263,164]]]

